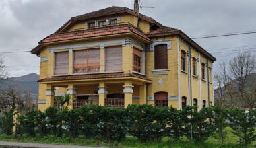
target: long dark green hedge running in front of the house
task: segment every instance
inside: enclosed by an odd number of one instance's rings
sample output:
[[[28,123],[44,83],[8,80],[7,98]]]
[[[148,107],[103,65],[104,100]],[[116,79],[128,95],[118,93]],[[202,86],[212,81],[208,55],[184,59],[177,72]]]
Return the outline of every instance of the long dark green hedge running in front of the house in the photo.
[[[6,113],[3,132],[11,134],[13,112]],[[179,140],[186,136],[195,142],[208,137],[226,138],[224,128],[230,126],[240,139],[241,145],[255,141],[256,110],[238,108],[203,108],[199,112],[193,107],[185,110],[158,108],[150,105],[130,105],[126,109],[102,106],[84,106],[75,110],[46,112],[32,110],[18,117],[16,135],[63,134],[70,137],[96,137],[107,141],[122,141],[126,135],[140,141],[160,141],[162,137]],[[8,122],[8,124],[7,124]],[[214,132],[215,131],[215,132]]]

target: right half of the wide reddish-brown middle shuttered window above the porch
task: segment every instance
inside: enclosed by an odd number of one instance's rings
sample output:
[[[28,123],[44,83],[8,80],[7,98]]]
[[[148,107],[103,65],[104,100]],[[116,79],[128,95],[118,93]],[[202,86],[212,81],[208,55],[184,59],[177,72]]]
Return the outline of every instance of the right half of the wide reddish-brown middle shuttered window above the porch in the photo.
[[[100,71],[100,49],[88,50],[88,72]]]

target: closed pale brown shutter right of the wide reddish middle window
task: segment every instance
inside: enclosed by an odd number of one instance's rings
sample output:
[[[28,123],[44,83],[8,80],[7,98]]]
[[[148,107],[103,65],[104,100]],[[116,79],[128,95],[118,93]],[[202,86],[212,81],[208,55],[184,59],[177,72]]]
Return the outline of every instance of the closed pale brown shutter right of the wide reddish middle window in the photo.
[[[122,71],[122,47],[106,48],[106,71]]]

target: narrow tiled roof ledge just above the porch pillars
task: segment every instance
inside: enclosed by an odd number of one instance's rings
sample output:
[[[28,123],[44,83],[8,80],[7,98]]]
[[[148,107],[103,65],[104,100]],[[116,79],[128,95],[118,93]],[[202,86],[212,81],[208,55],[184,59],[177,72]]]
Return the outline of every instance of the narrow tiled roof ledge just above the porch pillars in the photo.
[[[103,78],[121,78],[121,77],[137,77],[140,79],[145,79],[151,81],[144,75],[139,75],[136,73],[102,73],[102,74],[92,74],[92,75],[67,75],[67,76],[56,76],[44,79],[39,79],[38,82],[47,81],[74,81],[74,80],[88,80],[88,79],[103,79]]]

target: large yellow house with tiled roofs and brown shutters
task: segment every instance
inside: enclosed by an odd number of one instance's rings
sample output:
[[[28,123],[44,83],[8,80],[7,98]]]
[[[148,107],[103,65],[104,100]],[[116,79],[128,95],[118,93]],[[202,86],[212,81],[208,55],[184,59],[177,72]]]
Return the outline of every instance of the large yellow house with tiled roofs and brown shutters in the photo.
[[[126,108],[155,104],[182,109],[214,105],[216,61],[181,30],[134,9],[108,7],[72,17],[31,52],[40,57],[38,108],[85,104]]]

